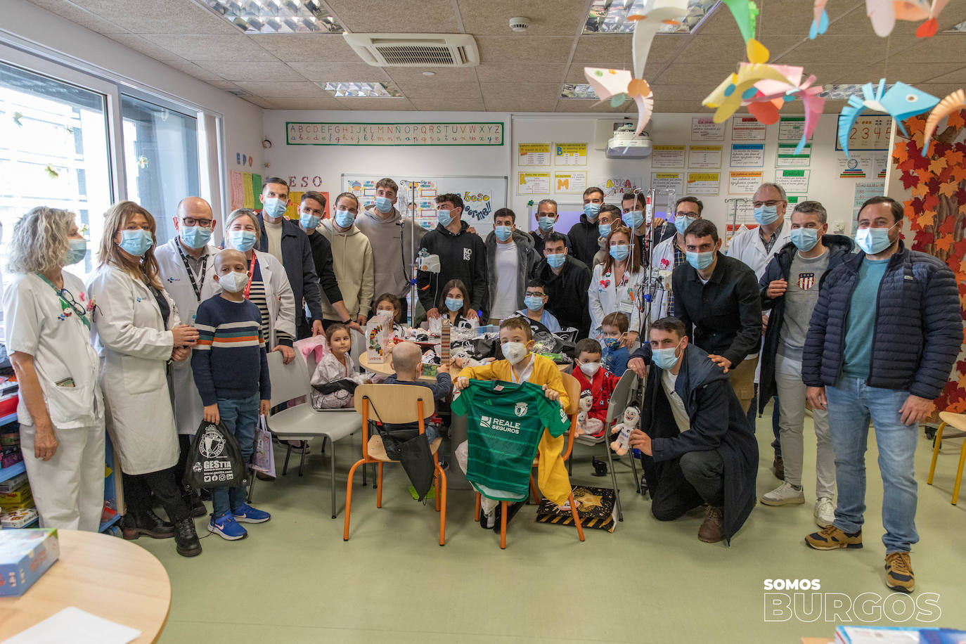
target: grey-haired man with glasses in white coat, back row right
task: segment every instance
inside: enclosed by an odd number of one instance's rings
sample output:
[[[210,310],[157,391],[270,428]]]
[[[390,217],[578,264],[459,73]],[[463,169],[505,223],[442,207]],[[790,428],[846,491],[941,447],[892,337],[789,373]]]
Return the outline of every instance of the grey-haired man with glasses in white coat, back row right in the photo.
[[[741,260],[752,268],[755,276],[761,279],[765,273],[765,266],[781,248],[791,241],[791,224],[785,220],[785,209],[788,208],[788,196],[784,188],[778,183],[762,183],[754,191],[752,198],[754,221],[758,227],[746,230],[734,238],[727,247],[725,255]],[[767,325],[768,319],[762,314],[761,322]],[[760,362],[758,363],[760,366]],[[766,401],[767,403],[767,401]],[[755,416],[758,409],[758,374],[754,374],[754,398],[748,408],[748,422],[755,426]],[[784,479],[784,462],[781,461],[781,442],[779,441],[778,399],[772,414],[772,432],[775,440],[775,461],[772,468],[775,476]]]

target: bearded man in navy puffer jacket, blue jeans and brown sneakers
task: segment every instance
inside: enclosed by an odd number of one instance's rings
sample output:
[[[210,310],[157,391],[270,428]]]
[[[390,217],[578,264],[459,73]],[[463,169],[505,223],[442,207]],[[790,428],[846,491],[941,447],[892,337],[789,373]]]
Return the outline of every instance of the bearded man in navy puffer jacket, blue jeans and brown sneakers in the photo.
[[[835,522],[805,538],[816,549],[862,547],[868,422],[882,474],[886,585],[911,593],[917,427],[946,385],[962,344],[952,270],[899,241],[902,205],[873,197],[859,210],[854,258],[825,276],[809,324],[802,379],[829,410],[836,453]]]

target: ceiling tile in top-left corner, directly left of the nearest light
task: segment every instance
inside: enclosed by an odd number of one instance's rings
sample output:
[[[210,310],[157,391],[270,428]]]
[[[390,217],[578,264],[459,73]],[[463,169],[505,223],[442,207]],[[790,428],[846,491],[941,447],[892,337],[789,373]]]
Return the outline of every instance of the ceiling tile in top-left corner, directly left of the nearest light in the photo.
[[[241,34],[228,20],[191,0],[71,0],[88,11],[109,16],[135,34]]]

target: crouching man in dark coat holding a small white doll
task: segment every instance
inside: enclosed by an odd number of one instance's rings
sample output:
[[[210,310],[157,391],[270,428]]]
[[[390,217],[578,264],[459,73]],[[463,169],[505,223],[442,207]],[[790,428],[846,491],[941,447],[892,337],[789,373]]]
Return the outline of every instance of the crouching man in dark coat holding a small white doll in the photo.
[[[668,521],[706,505],[697,538],[730,544],[754,507],[758,445],[727,376],[676,318],[651,324],[627,366],[647,375],[630,445],[644,455],[651,512]]]

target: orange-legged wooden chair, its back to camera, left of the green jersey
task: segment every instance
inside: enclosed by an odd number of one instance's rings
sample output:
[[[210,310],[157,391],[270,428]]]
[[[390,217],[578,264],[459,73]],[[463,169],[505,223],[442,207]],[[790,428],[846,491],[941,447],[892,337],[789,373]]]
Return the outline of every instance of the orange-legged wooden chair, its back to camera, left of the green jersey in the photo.
[[[362,415],[362,458],[353,464],[349,470],[349,481],[346,483],[346,525],[342,539],[349,541],[349,519],[352,514],[353,477],[355,469],[366,463],[378,463],[379,473],[376,479],[376,507],[383,507],[383,466],[387,462],[395,462],[385,455],[383,441],[378,435],[369,436],[369,409],[378,411],[378,419],[383,423],[393,425],[402,423],[418,423],[419,434],[425,434],[424,420],[433,415],[436,406],[433,395],[426,387],[410,384],[360,384],[355,387],[355,410]],[[437,450],[440,448],[441,438],[437,438],[430,446],[433,453],[435,467],[434,485],[436,488],[436,511],[440,513],[440,546],[446,545],[446,474],[440,468]]]

